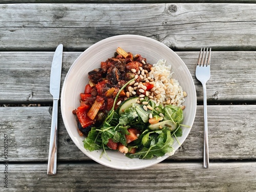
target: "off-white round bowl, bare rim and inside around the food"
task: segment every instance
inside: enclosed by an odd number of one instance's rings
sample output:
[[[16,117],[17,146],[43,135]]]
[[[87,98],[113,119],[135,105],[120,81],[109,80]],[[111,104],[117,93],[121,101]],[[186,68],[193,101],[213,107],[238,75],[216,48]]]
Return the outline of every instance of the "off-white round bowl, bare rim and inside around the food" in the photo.
[[[196,115],[197,96],[193,78],[181,58],[167,46],[157,40],[139,36],[139,35],[118,35],[103,39],[86,51],[84,51],[71,66],[61,92],[61,113],[69,136],[76,146],[88,157],[94,161],[117,169],[139,169],[157,164],[168,156],[154,158],[151,160],[130,159],[122,153],[108,151],[109,161],[105,155],[100,158],[102,151],[93,151],[84,149],[83,137],[77,132],[77,122],[72,111],[79,106],[80,93],[84,91],[84,86],[88,83],[88,72],[100,67],[100,62],[114,56],[117,47],[121,47],[126,52],[141,54],[147,59],[147,62],[154,64],[159,59],[166,59],[167,65],[172,65],[174,71],[173,77],[178,79],[183,90],[187,92],[184,110],[184,120],[182,124],[192,127]],[[191,128],[183,127],[183,135],[179,138],[182,144],[188,136]],[[173,144],[175,151],[180,147],[175,139]]]

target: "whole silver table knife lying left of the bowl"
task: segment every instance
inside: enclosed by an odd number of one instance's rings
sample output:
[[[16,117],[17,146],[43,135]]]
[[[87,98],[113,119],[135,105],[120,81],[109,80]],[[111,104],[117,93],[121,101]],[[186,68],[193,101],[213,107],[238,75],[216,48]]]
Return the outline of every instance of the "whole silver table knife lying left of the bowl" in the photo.
[[[51,68],[50,93],[53,96],[53,108],[47,175],[55,175],[57,169],[57,122],[62,68],[62,51],[63,45],[60,44],[54,53]]]

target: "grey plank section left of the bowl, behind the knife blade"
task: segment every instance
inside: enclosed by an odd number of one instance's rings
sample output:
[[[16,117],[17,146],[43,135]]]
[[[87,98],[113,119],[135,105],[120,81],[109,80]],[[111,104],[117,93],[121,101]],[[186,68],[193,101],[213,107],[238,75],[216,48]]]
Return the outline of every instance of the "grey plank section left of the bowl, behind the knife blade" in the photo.
[[[61,86],[81,53],[64,53]],[[50,73],[53,52],[1,52],[0,101],[51,102]]]

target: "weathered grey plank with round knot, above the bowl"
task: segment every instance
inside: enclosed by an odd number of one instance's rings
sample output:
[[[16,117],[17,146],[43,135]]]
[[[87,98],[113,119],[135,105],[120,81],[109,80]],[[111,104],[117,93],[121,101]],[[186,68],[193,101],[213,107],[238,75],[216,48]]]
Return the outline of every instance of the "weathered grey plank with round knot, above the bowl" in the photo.
[[[255,13],[256,4],[2,4],[0,51],[82,51],[118,34],[174,50],[255,50]]]

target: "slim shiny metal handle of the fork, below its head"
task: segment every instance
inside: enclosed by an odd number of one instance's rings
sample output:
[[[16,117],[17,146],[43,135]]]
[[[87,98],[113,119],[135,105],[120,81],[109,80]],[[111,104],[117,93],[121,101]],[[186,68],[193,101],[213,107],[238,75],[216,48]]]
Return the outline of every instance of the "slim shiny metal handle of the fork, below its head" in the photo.
[[[206,97],[206,85],[203,84],[204,95],[204,168],[209,167],[209,151],[208,151],[208,122],[207,122],[207,97]]]

